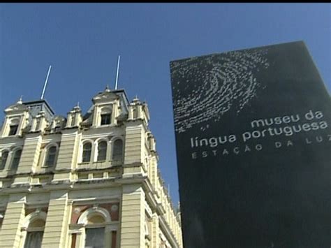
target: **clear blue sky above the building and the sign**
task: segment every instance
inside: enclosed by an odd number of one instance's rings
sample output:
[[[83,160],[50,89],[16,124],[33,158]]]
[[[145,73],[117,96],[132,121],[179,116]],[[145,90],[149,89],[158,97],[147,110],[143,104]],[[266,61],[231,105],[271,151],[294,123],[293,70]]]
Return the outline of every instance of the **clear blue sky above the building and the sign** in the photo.
[[[172,60],[304,41],[330,92],[330,3],[1,3],[0,119],[20,96],[66,117],[106,85],[149,106],[159,168],[179,201]],[[207,166],[207,165],[206,165]]]

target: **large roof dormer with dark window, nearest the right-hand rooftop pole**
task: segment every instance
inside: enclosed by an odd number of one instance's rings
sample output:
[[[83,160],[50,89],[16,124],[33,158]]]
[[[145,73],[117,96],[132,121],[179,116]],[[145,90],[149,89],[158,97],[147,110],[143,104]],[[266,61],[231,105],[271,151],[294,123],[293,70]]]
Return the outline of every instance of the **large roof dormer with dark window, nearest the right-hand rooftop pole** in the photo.
[[[92,99],[94,103],[92,126],[117,125],[121,114],[120,97],[108,87]]]

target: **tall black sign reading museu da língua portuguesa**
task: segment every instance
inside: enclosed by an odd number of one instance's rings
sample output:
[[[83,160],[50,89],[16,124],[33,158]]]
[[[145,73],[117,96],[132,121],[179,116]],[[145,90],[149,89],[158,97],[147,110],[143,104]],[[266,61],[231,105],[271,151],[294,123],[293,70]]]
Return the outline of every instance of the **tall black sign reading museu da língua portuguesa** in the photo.
[[[330,248],[330,95],[302,41],[170,62],[185,248]]]

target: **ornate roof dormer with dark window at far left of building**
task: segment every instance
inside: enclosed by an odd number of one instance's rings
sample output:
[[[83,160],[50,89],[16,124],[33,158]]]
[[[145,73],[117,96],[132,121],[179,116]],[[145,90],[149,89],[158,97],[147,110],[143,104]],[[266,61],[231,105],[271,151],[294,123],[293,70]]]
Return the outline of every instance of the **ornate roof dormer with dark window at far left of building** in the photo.
[[[22,131],[29,124],[29,109],[22,103],[22,98],[14,105],[6,108],[5,120],[2,125],[0,137],[22,136]]]

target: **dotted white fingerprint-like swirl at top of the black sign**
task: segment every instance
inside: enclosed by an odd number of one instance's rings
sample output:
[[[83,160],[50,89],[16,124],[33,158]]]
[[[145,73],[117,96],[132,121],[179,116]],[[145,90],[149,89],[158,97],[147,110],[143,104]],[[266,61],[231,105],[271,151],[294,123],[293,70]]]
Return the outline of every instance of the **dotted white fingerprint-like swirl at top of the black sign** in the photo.
[[[185,132],[229,110],[239,113],[260,87],[254,73],[268,68],[267,49],[241,50],[172,61],[175,131]]]

